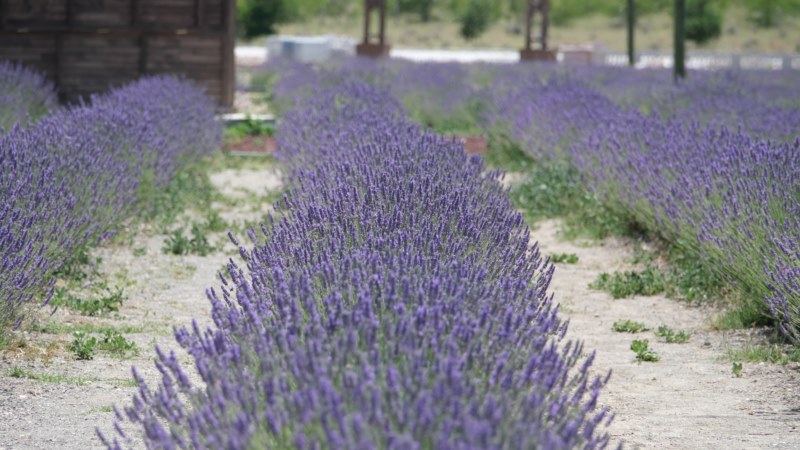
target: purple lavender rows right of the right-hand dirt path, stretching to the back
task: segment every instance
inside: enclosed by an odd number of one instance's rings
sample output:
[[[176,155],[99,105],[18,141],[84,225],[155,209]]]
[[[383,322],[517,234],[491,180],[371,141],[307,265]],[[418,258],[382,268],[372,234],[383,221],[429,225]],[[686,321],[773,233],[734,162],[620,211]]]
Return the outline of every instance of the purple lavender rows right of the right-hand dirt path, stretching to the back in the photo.
[[[800,342],[797,72],[696,72],[675,85],[658,70],[339,64],[316,76],[377,78],[412,111],[448,105],[436,114],[458,120],[481,99],[470,125],[571,161],[600,198],[763,298]]]

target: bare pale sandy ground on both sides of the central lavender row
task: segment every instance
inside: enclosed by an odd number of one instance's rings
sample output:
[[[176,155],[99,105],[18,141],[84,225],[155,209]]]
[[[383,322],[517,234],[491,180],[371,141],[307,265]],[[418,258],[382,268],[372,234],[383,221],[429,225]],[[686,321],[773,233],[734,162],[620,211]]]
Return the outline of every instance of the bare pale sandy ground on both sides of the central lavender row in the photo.
[[[278,176],[274,168],[214,174],[212,180],[223,194],[243,200],[222,210],[223,217],[259,219],[263,205],[244,200],[257,202],[265,190],[278,188]],[[731,363],[722,359],[725,350],[758,336],[712,330],[708,325],[716,313],[712,309],[663,297],[613,300],[589,289],[599,273],[629,267],[632,246],[616,239],[565,242],[558,229],[557,221],[545,221],[533,237],[545,255],[579,256],[577,264],[558,265],[552,290],[562,314],[571,321],[568,336],[583,340],[588,350],[597,349],[593,370],[613,371],[601,401],[616,414],[610,428],[615,442],[627,448],[800,448],[798,365],[746,363],[743,376],[734,377]],[[100,447],[95,427],[110,434],[111,405],[127,405],[135,392],[130,366],[137,366],[146,379],[157,380],[154,346],[175,349],[174,325],[188,324],[192,318],[210,321],[203,291],[215,284],[216,272],[235,249],[229,245],[206,257],[170,256],[161,252],[163,242],[164,236],[139,233],[131,243],[96,250],[96,256],[103,258],[103,276],[112,284],[128,285],[128,299],[119,314],[90,318],[66,310],[52,316],[42,313],[42,323],[61,326],[139,327],[125,333],[141,348],[139,355],[121,360],[100,352],[91,361],[77,361],[66,350],[72,339],[68,332],[20,332],[19,344],[0,354],[0,449]],[[615,333],[611,325],[620,319],[641,321],[651,328],[668,325],[692,337],[685,344],[667,344],[652,332],[636,337]],[[637,363],[629,348],[634,338],[649,339],[661,361]],[[179,354],[190,366],[189,359]],[[14,378],[9,376],[14,367],[58,375],[61,380]]]

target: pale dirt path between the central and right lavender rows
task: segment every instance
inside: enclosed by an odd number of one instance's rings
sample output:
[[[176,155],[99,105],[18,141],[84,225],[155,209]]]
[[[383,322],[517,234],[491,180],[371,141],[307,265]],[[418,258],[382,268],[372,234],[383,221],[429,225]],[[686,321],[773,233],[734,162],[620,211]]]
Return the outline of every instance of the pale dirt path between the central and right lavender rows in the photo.
[[[626,448],[766,449],[800,448],[800,365],[745,363],[742,377],[722,359],[743,345],[747,332],[719,332],[709,326],[716,312],[660,296],[614,300],[588,288],[602,272],[628,269],[632,247],[610,239],[602,245],[562,241],[559,222],[544,221],[533,231],[545,255],[575,253],[577,264],[558,264],[551,285],[568,337],[597,350],[594,370],[613,374],[601,403],[616,414],[613,439]],[[616,333],[617,320],[631,319],[655,329],[686,330],[685,344],[667,344],[652,331]],[[634,339],[649,339],[661,357],[637,363]],[[753,337],[752,339],[757,339]]]

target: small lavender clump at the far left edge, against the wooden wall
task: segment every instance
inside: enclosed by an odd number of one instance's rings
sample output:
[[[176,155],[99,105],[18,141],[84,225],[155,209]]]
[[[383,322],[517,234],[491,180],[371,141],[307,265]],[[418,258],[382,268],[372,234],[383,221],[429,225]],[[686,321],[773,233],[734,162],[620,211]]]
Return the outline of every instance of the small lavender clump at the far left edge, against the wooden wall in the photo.
[[[57,105],[55,86],[44,75],[0,61],[0,134],[32,123]]]

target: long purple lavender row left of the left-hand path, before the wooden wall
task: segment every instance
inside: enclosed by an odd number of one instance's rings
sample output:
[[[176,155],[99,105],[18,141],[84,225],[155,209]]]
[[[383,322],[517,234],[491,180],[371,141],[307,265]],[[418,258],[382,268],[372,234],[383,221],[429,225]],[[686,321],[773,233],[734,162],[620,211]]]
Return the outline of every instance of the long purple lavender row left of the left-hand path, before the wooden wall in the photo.
[[[0,135],[0,325],[49,300],[53,273],[108,237],[180,163],[218,147],[214,104],[194,85],[143,79]]]

